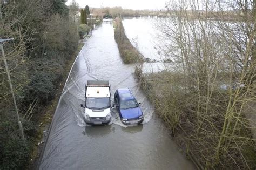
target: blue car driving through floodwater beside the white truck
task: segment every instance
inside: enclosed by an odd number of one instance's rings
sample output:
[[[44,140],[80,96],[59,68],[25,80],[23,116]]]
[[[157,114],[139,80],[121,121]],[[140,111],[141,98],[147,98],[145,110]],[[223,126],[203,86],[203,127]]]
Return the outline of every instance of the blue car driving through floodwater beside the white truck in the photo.
[[[144,117],[139,107],[140,103],[137,102],[128,88],[118,89],[116,93],[114,93],[114,103],[123,124],[143,122]]]

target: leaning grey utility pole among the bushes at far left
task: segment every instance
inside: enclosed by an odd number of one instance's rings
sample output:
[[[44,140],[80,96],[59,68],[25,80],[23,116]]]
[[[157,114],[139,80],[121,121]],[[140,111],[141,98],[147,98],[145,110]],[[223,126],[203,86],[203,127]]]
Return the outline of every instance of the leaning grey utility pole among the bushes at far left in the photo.
[[[9,85],[10,85],[12,99],[14,100],[14,107],[15,107],[15,111],[16,111],[16,114],[17,114],[19,131],[21,131],[20,132],[21,133],[21,137],[22,137],[22,140],[23,140],[23,142],[25,144],[25,138],[24,138],[24,133],[23,133],[23,128],[22,128],[22,123],[21,123],[21,120],[19,119],[19,112],[18,112],[18,107],[17,107],[17,104],[16,104],[15,95],[14,95],[14,89],[12,88],[10,71],[8,69],[7,61],[6,61],[5,54],[4,54],[4,47],[3,47],[3,43],[4,42],[7,42],[8,40],[13,40],[13,39],[14,38],[11,38],[11,39],[0,39],[0,47],[1,47],[1,51],[2,51],[2,57],[4,59],[4,65],[5,65],[5,70],[6,70],[6,74],[7,74],[7,77],[8,77]]]

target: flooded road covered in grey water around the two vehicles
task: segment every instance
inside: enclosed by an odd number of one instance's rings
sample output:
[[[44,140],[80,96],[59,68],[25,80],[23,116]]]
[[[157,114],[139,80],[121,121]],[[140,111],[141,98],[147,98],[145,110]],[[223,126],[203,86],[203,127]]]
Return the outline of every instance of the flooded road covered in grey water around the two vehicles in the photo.
[[[74,63],[59,105],[39,169],[193,169],[178,151],[163,122],[139,89],[133,65],[125,65],[114,41],[113,26],[93,31]],[[115,108],[110,125],[83,121],[86,80],[109,80],[114,91],[129,87],[142,102],[142,125],[124,126]]]

